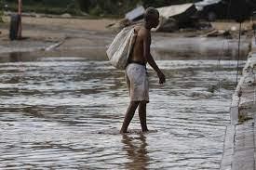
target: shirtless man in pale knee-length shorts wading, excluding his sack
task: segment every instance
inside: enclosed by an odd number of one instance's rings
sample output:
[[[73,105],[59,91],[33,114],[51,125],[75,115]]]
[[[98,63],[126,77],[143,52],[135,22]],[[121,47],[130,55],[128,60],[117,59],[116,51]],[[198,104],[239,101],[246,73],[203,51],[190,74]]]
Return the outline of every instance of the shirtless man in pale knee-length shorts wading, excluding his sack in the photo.
[[[143,26],[136,26],[134,28],[138,35],[126,68],[130,103],[120,133],[128,132],[128,124],[133,118],[134,112],[138,106],[141,129],[143,132],[148,131],[146,124],[146,104],[149,102],[149,86],[146,63],[148,62],[155,72],[157,72],[159,84],[164,84],[166,82],[165,75],[160,71],[158,66],[155,64],[155,60],[150,54],[150,31],[159,23],[159,12],[154,7],[148,7],[144,14],[144,20],[145,23]]]

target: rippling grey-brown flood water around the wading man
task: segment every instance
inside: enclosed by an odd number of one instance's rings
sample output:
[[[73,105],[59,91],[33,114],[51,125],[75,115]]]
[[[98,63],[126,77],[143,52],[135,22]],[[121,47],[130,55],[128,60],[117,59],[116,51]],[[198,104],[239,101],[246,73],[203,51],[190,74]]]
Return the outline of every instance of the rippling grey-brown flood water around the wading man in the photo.
[[[149,69],[152,131],[136,112],[120,135],[128,90],[105,59],[2,61],[0,169],[219,169],[236,60],[157,63],[167,83]]]

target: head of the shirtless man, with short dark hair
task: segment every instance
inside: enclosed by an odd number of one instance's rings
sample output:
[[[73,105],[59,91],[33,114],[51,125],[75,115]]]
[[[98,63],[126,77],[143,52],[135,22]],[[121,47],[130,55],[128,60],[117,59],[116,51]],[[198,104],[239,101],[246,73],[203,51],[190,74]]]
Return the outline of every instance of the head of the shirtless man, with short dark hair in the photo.
[[[152,27],[156,28],[159,24],[159,12],[155,7],[148,7],[144,13],[144,20],[146,23]]]

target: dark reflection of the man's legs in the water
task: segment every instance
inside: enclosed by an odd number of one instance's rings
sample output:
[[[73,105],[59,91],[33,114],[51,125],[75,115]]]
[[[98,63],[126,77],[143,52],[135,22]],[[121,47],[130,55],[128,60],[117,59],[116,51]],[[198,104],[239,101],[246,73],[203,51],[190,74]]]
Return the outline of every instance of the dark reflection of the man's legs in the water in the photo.
[[[150,158],[147,155],[146,137],[141,133],[139,137],[129,137],[123,135],[123,150],[127,151],[129,162],[126,163],[126,169],[147,169]]]

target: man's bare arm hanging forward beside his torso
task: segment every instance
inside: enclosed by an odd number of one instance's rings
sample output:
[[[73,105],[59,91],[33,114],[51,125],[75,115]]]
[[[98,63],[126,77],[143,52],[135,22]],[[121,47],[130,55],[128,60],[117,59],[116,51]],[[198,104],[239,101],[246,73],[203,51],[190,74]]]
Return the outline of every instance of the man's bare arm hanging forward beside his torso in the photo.
[[[159,77],[159,84],[163,84],[166,82],[166,77],[163,72],[158,68],[158,66],[155,63],[155,59],[153,59],[151,53],[150,53],[150,33],[145,32],[144,38],[143,38],[143,57],[147,60],[149,65],[155,70]]]

